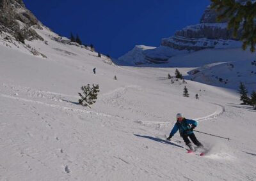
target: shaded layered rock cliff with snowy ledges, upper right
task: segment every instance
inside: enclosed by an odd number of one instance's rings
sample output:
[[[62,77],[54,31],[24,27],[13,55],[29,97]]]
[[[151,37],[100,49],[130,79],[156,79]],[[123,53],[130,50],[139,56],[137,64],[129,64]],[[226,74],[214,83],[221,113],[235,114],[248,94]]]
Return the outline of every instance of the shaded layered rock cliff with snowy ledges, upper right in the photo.
[[[232,46],[236,39],[233,38],[232,31],[227,30],[227,20],[216,22],[216,17],[216,11],[207,7],[200,24],[190,25],[177,31],[174,36],[164,38],[161,45],[189,51]]]

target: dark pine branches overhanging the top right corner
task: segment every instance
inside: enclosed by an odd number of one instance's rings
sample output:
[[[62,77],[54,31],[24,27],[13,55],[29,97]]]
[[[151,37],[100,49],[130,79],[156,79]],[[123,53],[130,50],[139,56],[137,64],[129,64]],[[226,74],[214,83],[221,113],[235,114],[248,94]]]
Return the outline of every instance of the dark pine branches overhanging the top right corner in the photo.
[[[241,30],[240,41],[243,41],[242,48],[245,50],[250,46],[252,52],[256,45],[256,2],[247,1],[241,4],[236,0],[211,0],[211,8],[220,13],[217,20],[228,19],[228,29],[233,30],[233,36],[238,37]]]

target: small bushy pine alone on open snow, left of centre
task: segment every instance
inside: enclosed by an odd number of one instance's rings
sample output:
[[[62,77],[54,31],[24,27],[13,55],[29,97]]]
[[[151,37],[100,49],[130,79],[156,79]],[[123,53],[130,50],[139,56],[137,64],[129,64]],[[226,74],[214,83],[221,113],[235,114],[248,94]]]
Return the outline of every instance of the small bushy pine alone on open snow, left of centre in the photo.
[[[78,103],[80,105],[88,106],[89,108],[91,108],[89,105],[92,105],[96,102],[99,92],[99,85],[93,84],[92,87],[90,87],[90,84],[87,84],[82,86],[81,90],[83,91],[83,95],[78,92],[79,96],[81,97],[81,99],[78,100]]]

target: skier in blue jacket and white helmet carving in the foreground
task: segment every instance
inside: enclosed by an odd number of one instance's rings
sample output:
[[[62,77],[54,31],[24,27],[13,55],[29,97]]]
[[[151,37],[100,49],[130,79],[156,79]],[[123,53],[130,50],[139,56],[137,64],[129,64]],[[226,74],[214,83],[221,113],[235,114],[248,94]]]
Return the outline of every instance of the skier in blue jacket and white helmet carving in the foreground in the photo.
[[[191,142],[189,141],[188,137],[193,141],[193,143],[197,147],[204,147],[202,143],[200,143],[193,132],[193,129],[197,126],[197,122],[192,119],[186,119],[182,116],[182,113],[177,113],[176,115],[177,122],[175,123],[170,136],[166,140],[170,140],[172,136],[179,130],[180,136],[185,141],[186,145],[189,147],[190,150],[195,151],[195,148],[192,146]]]

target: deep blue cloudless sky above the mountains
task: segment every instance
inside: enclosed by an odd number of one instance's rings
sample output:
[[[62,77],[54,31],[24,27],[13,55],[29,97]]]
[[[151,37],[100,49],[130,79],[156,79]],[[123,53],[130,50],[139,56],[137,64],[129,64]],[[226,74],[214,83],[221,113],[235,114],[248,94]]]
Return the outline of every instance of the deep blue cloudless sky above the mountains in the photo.
[[[120,57],[135,45],[158,47],[162,38],[198,24],[210,0],[24,0],[55,33],[79,34],[97,52]]]

